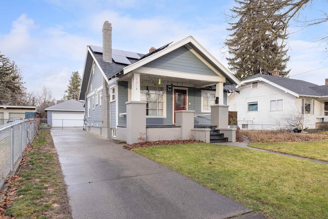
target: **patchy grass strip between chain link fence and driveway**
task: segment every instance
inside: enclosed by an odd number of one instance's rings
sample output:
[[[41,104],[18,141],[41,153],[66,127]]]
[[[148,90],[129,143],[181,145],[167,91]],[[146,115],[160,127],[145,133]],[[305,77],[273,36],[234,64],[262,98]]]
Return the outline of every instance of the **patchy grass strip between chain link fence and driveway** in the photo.
[[[58,206],[68,205],[65,203],[67,197],[62,196],[66,186],[56,159],[50,131],[39,132],[26,157],[28,165],[20,170],[17,198],[14,199],[12,207],[6,209],[6,214],[14,216],[15,219],[43,219],[60,215],[63,209]]]

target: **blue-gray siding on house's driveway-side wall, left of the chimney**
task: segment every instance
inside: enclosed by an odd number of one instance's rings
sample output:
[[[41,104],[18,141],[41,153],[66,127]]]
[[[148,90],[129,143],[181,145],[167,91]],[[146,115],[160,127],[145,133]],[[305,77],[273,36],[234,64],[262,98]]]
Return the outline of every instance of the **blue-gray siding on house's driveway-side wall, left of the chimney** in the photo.
[[[91,90],[91,85],[92,85],[92,90]],[[99,105],[100,103],[100,92],[103,90],[97,90],[98,94],[98,104],[96,105],[96,93],[95,90],[98,87],[101,87],[103,85],[103,74],[101,74],[100,70],[98,69],[97,66],[95,66],[95,72],[94,74],[91,73],[91,78],[90,78],[90,83],[89,83],[89,88],[88,88],[88,93],[91,94],[86,98],[86,118],[87,118],[87,123],[88,126],[94,126],[94,127],[101,127],[102,124],[102,118],[101,118],[101,106]],[[104,94],[103,94],[104,95]],[[95,105],[94,105],[94,110],[92,109],[92,97],[95,98]],[[88,99],[90,99],[90,117],[88,117]]]

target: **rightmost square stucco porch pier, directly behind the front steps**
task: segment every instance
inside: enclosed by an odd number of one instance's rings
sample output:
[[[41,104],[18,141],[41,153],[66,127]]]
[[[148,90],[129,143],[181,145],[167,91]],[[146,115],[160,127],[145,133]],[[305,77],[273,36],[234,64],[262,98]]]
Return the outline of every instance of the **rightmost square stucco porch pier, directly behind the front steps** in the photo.
[[[227,129],[229,120],[228,105],[211,106],[211,125],[217,126],[217,129]]]

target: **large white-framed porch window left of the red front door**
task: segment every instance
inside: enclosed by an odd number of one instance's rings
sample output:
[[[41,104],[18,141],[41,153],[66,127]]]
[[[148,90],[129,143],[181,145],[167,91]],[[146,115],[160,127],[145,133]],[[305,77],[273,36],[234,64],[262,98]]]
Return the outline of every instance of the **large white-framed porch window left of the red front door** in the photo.
[[[140,101],[147,102],[146,115],[164,115],[164,88],[155,86],[140,86]]]

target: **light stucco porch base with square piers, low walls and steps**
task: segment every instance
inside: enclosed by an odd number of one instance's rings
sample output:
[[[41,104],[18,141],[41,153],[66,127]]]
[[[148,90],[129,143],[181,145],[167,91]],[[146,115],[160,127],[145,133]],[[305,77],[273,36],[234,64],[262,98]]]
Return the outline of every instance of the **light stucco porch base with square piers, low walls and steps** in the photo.
[[[127,144],[195,139],[206,143],[235,142],[236,129],[228,128],[227,105],[211,106],[211,125],[195,125],[193,110],[177,110],[175,124],[147,125],[146,103],[127,102],[127,125],[117,126],[116,139]]]

